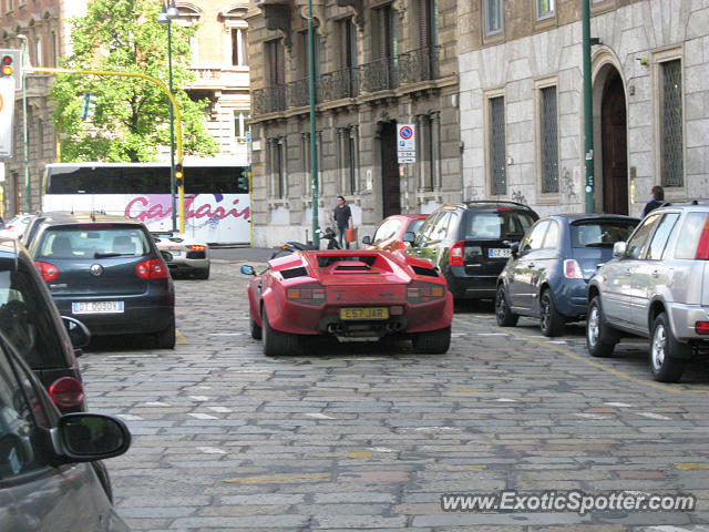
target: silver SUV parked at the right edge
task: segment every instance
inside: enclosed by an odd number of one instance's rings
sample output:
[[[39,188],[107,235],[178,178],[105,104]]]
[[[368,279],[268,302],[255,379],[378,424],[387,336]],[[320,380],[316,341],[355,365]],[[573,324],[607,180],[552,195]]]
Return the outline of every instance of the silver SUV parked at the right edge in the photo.
[[[626,334],[650,338],[655,380],[676,382],[709,347],[709,204],[648,214],[588,285],[586,345],[608,357]]]

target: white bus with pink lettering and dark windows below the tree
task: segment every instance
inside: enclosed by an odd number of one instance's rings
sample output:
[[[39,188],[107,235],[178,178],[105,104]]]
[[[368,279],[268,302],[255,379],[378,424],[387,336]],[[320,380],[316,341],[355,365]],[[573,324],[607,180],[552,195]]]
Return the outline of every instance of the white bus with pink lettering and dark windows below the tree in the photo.
[[[185,233],[209,244],[250,243],[247,167],[215,161],[184,164],[183,170]],[[152,232],[173,227],[169,164],[52,163],[45,167],[43,192],[44,212],[102,211],[137,218]]]

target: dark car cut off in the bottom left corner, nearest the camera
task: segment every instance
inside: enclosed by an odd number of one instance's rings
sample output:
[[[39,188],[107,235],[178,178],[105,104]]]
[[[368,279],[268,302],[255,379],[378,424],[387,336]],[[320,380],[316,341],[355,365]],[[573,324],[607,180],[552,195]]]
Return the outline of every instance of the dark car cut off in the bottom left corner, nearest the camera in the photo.
[[[120,419],[62,416],[0,332],[0,530],[127,532],[91,463],[130,443]]]

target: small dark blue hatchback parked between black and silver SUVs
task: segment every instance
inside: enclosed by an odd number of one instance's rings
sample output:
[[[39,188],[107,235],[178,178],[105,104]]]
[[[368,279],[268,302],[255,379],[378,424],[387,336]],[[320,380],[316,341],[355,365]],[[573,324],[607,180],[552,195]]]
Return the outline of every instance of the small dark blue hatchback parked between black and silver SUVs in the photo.
[[[545,336],[558,336],[564,324],[585,319],[588,280],[613,257],[638,218],[610,214],[558,214],[537,221],[497,279],[495,316],[502,327],[520,316],[540,318]]]

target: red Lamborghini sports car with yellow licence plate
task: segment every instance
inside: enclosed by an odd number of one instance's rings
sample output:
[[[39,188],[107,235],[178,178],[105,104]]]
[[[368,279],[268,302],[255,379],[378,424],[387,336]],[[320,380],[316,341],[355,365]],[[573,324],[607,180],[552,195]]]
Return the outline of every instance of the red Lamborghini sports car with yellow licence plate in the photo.
[[[301,339],[410,338],[419,352],[451,344],[453,298],[429,260],[380,250],[298,252],[269,260],[248,286],[251,337],[267,356],[291,355]]]

